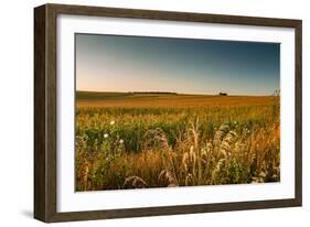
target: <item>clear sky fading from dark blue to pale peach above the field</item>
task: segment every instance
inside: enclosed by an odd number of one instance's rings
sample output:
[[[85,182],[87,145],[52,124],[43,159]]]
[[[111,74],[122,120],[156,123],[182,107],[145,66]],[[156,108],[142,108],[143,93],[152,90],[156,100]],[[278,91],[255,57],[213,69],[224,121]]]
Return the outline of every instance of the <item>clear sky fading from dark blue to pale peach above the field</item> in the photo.
[[[280,44],[76,34],[76,90],[271,95]]]

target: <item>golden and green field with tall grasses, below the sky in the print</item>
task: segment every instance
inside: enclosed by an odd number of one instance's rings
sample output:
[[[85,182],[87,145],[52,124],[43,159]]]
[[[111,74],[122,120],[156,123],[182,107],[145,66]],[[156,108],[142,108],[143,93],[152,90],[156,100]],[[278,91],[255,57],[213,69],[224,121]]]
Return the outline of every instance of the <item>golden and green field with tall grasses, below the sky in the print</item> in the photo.
[[[279,97],[76,93],[76,191],[280,181]]]

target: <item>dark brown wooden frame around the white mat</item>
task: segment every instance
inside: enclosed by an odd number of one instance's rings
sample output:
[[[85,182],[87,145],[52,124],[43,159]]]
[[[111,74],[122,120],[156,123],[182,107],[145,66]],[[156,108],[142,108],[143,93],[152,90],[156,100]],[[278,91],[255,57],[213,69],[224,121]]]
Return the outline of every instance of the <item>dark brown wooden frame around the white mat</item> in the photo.
[[[148,208],[70,212],[56,210],[56,18],[58,14],[172,20],[224,24],[293,28],[296,34],[295,198]],[[34,218],[46,221],[177,215],[189,213],[301,206],[302,203],[302,21],[274,18],[168,12],[67,4],[34,9]]]

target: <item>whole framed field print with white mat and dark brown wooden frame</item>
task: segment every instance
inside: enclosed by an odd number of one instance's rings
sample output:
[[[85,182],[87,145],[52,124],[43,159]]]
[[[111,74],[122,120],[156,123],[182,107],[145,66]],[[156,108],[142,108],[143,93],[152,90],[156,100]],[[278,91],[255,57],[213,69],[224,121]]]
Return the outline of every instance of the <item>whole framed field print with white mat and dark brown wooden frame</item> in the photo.
[[[34,9],[34,217],[301,206],[301,21]]]

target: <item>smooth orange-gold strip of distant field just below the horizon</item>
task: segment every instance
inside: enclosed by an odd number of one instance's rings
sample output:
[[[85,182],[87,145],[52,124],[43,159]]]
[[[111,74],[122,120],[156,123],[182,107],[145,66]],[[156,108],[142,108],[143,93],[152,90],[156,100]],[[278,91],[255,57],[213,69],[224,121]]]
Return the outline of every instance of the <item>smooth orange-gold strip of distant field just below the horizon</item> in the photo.
[[[265,105],[274,101],[271,96],[211,96],[175,94],[127,94],[127,93],[85,93],[77,96],[77,107],[210,107]]]

